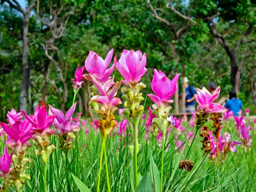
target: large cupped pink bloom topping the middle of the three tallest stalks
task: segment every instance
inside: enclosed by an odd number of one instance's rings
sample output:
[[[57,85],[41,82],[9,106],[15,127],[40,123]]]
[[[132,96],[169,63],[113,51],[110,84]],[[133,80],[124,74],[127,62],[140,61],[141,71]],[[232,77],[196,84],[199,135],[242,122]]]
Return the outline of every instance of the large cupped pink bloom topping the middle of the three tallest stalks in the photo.
[[[116,69],[127,82],[139,82],[147,71],[145,68],[147,62],[146,54],[144,53],[142,56],[140,50],[135,52],[134,50],[128,51],[124,49],[119,61],[117,61],[116,57],[114,57]]]

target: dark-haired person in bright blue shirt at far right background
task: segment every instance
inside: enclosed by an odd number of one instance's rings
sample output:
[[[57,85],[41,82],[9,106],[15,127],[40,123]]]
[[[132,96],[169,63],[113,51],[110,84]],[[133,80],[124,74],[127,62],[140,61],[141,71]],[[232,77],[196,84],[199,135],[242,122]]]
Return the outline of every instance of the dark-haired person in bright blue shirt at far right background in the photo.
[[[241,111],[241,108],[243,107],[243,103],[241,99],[238,99],[236,97],[236,91],[231,90],[229,100],[225,103],[224,107],[227,108],[229,111],[233,111],[235,116],[239,116],[239,112]]]

